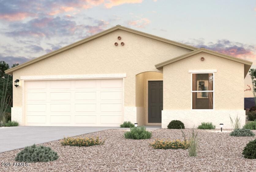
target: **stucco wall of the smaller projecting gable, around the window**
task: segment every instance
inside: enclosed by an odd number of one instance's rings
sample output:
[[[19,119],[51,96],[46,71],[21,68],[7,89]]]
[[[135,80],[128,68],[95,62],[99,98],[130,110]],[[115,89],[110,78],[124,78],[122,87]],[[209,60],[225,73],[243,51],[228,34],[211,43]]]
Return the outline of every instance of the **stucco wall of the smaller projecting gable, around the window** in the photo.
[[[205,60],[201,61],[201,57]],[[214,110],[191,110],[191,73],[189,70],[216,69],[214,73]],[[201,122],[225,123],[231,128],[229,115],[238,115],[245,123],[244,65],[206,53],[199,53],[164,66],[164,110],[162,127],[171,120],[184,122],[187,128]],[[217,126],[217,127],[218,127]]]

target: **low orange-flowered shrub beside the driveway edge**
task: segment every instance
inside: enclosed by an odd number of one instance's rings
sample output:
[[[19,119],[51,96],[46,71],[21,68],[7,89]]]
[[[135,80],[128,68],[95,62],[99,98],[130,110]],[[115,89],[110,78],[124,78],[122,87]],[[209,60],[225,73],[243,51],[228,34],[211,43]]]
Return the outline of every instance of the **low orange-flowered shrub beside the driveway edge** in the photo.
[[[100,140],[99,137],[84,137],[84,138],[72,138],[72,137],[64,137],[64,139],[61,141],[61,144],[69,145],[69,146],[94,146],[94,145],[100,145],[104,144],[104,141]]]

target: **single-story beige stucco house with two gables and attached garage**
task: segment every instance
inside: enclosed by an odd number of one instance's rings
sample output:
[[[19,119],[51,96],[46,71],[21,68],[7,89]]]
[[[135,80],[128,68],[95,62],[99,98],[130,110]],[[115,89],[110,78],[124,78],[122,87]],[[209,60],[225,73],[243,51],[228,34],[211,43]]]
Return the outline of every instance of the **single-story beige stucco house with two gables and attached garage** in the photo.
[[[6,70],[21,125],[245,124],[252,62],[117,25]]]

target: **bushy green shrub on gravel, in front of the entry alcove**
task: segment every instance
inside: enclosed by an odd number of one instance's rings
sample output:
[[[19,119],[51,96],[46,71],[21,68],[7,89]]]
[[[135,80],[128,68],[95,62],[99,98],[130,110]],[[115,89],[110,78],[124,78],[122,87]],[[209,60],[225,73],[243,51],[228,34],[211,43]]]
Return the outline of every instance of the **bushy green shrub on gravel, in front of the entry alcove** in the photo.
[[[124,133],[126,139],[150,139],[151,136],[152,133],[147,131],[145,127],[133,127]]]

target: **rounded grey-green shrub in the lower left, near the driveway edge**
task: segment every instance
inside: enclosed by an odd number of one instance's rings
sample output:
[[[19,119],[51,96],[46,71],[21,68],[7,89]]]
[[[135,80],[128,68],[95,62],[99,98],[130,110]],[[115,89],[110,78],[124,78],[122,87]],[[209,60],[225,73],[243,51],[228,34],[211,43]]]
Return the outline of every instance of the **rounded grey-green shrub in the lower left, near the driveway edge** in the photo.
[[[19,153],[17,153],[15,157],[15,161],[19,162],[47,162],[54,161],[58,159],[57,152],[51,150],[50,147],[45,146],[36,146],[35,144],[32,146],[27,146]]]

